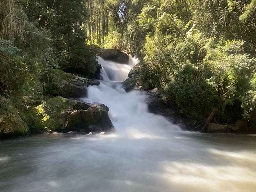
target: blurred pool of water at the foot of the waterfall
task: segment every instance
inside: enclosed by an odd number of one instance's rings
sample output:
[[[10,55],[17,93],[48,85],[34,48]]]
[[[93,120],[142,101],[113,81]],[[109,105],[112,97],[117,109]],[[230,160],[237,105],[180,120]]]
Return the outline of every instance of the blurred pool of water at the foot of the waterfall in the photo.
[[[10,192],[218,191],[228,187],[252,191],[256,187],[254,140],[181,132],[165,138],[39,135],[12,144],[4,141],[0,188]]]

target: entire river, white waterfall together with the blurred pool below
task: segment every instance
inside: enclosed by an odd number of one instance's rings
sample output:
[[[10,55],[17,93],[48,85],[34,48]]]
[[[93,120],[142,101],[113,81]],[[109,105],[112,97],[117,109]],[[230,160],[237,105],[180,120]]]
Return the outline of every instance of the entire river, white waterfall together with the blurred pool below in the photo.
[[[129,65],[106,62],[84,101],[104,103],[116,132],[0,142],[1,192],[254,192],[255,135],[184,132],[125,93]]]

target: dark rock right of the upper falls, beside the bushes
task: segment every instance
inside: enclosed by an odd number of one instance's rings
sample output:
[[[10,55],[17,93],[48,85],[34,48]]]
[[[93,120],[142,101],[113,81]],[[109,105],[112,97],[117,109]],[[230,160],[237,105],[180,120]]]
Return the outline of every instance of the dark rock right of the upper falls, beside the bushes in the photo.
[[[141,70],[141,64],[136,64],[128,74],[128,79],[126,79],[122,84],[123,88],[126,92],[130,92],[132,90],[142,90],[142,86],[140,85],[139,74]]]

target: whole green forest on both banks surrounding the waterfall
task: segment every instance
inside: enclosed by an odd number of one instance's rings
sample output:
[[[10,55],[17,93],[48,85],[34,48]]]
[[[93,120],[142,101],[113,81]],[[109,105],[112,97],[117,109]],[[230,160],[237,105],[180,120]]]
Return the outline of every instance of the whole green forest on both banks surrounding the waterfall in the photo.
[[[180,114],[255,124],[256,0],[1,0],[0,119],[28,126],[44,74],[92,78],[100,48],[138,57]]]

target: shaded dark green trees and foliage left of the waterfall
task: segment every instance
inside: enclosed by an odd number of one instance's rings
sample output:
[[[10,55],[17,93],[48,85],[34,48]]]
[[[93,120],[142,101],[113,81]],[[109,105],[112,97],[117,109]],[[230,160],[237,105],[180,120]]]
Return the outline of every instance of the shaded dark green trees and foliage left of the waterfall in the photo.
[[[24,96],[43,97],[45,82],[40,78],[48,68],[88,77],[95,73],[95,52],[82,28],[89,18],[85,4],[0,1],[0,133],[28,131]]]

